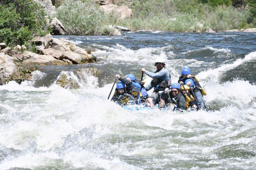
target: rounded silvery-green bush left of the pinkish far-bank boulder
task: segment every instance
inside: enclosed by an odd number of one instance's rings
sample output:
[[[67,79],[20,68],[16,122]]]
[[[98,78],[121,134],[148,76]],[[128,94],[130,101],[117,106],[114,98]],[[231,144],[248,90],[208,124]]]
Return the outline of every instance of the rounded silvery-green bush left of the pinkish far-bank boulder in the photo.
[[[97,35],[102,33],[104,12],[93,0],[65,0],[57,8],[57,18],[68,34]]]

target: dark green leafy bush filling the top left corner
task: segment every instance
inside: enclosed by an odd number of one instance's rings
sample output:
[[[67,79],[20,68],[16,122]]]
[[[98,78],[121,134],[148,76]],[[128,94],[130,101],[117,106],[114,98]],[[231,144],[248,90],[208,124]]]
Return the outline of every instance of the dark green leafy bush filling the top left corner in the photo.
[[[6,45],[23,45],[33,36],[50,32],[46,14],[33,0],[0,1],[0,40]]]

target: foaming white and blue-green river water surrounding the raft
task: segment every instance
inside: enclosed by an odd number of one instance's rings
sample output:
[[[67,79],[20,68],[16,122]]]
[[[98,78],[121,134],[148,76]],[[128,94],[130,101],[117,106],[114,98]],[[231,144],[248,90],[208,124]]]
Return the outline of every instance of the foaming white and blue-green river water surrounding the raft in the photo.
[[[100,61],[43,67],[33,80],[0,86],[0,170],[254,170],[256,34],[137,31],[64,36]],[[129,112],[107,100],[115,74],[155,71],[172,82],[188,66],[206,89],[208,112]],[[94,67],[98,77],[73,70]],[[55,84],[60,72],[82,88]],[[144,76],[150,81],[149,77]]]

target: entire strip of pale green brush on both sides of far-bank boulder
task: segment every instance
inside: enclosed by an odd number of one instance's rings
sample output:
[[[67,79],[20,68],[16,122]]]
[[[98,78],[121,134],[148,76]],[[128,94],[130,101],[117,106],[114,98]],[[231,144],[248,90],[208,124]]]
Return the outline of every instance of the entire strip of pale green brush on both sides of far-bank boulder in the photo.
[[[133,10],[132,17],[121,20],[114,14],[104,15],[93,0],[56,0],[59,6],[57,17],[70,32],[77,29],[75,34],[81,34],[82,31],[85,35],[101,34],[102,27],[110,24],[125,26],[134,31],[172,32],[256,27],[256,0],[122,0],[122,2],[130,4],[129,7]],[[88,23],[92,25],[88,26]]]

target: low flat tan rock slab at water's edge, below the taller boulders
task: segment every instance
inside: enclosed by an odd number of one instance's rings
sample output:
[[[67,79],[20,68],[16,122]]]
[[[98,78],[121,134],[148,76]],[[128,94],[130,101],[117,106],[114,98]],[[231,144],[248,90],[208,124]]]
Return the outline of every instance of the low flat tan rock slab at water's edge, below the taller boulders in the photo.
[[[67,65],[67,62],[55,59],[50,55],[39,55],[26,51],[22,56],[24,65]]]

